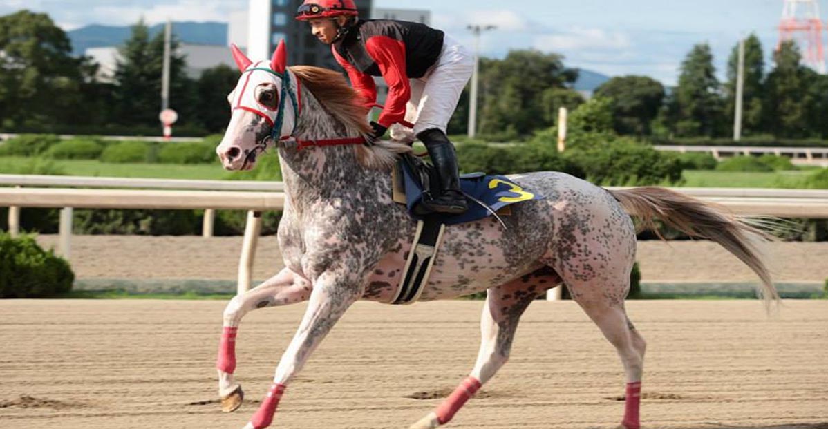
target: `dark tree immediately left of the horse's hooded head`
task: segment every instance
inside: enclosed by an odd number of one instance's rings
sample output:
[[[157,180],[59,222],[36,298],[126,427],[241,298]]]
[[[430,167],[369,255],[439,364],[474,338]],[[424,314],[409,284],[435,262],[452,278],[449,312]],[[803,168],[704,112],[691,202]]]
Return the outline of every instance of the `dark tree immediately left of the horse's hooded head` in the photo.
[[[198,87],[198,108],[195,114],[210,133],[219,133],[227,126],[227,94],[238,82],[238,69],[216,65],[201,73]]]

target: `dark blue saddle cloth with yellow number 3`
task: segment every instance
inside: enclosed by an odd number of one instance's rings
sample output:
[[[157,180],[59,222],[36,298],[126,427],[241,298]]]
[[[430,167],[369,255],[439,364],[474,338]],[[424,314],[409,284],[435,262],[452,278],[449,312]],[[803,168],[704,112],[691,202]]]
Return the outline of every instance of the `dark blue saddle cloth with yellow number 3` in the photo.
[[[402,171],[402,183],[406,191],[406,206],[408,212],[415,219],[437,219],[442,224],[463,224],[483,219],[492,213],[485,207],[473,200],[466,199],[469,203],[469,210],[463,214],[428,213],[418,214],[417,206],[420,205],[424,192],[421,181],[412,172],[412,166],[406,162],[400,162],[398,167]],[[530,190],[525,190],[506,176],[487,176],[484,173],[473,173],[460,176],[460,187],[467,195],[488,205],[493,211],[498,211],[507,205],[513,205],[521,201],[542,200],[542,195],[537,195]]]

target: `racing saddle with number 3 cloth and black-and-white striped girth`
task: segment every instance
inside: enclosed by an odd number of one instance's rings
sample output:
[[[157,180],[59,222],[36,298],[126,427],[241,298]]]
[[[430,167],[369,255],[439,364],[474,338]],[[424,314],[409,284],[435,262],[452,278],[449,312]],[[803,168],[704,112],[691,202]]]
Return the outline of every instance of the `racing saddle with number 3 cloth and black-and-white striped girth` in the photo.
[[[463,214],[434,213],[421,205],[423,195],[440,192],[440,181],[434,166],[405,154],[397,161],[392,179],[394,201],[406,205],[409,214],[417,220],[412,251],[408,253],[400,287],[392,304],[411,304],[420,297],[440,249],[445,225],[472,222],[489,215],[500,219],[499,216],[511,214],[509,205],[542,198],[523,190],[506,176],[471,173],[460,176],[460,187],[469,200],[469,210]],[[502,220],[501,224],[506,228]]]

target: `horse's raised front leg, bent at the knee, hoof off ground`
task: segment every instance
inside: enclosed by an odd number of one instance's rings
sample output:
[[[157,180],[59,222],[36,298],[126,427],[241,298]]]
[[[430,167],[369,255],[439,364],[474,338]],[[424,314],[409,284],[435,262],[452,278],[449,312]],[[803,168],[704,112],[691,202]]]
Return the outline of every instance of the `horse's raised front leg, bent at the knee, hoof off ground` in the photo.
[[[242,387],[233,378],[236,369],[236,333],[244,315],[258,308],[307,301],[309,296],[310,282],[285,268],[258,287],[230,300],[224,309],[224,327],[215,365],[219,372],[222,411],[236,411],[242,405],[244,397]]]

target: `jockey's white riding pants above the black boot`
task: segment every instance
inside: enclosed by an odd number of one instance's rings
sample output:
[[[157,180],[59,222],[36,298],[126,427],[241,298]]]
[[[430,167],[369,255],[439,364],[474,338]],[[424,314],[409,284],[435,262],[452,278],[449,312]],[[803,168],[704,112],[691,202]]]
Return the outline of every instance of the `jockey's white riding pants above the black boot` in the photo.
[[[474,56],[460,42],[445,35],[436,64],[421,78],[408,80],[411,98],[406,104],[406,120],[414,124],[414,129],[395,123],[391,127],[391,138],[413,142],[417,134],[431,128],[445,133],[473,71]]]

